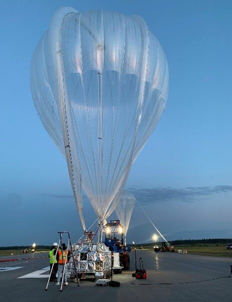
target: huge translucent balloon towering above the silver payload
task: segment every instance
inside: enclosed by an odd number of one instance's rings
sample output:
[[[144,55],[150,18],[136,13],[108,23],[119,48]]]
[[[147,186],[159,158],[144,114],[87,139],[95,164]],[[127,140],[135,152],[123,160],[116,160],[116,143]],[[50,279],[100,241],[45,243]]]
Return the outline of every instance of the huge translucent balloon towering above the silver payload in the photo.
[[[34,51],[31,91],[67,159],[83,227],[81,184],[101,223],[164,110],[162,47],[139,16],[60,8]]]

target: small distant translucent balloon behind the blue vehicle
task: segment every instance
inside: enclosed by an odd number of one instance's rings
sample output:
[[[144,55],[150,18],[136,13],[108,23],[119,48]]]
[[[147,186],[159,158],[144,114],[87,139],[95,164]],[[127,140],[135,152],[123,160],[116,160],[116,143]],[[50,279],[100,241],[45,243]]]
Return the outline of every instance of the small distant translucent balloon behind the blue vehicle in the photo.
[[[123,226],[123,234],[126,238],[131,215],[135,206],[135,197],[131,192],[124,191],[119,199],[115,213]]]

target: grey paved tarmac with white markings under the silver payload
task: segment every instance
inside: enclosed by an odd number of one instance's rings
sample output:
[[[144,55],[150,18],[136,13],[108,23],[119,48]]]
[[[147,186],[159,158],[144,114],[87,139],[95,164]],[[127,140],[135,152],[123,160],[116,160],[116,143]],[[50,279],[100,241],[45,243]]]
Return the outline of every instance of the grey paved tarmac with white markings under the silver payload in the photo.
[[[143,258],[144,268],[148,275],[146,280],[136,280],[131,276],[134,271],[133,255],[134,251],[131,252],[131,270],[123,272],[122,275],[114,275],[114,280],[121,283],[120,288],[97,287],[94,282],[83,281],[80,287],[70,283],[63,288],[61,293],[60,287],[54,283],[51,283],[48,291],[45,291],[48,271],[42,269],[49,266],[47,254],[0,257],[0,260],[33,258],[0,263],[0,301],[232,301],[232,278],[228,278],[232,264],[231,258],[137,250],[137,259]],[[16,267],[18,268],[16,270],[10,269]],[[27,277],[33,278],[18,279],[30,273],[33,274]],[[44,275],[45,278],[42,277]]]

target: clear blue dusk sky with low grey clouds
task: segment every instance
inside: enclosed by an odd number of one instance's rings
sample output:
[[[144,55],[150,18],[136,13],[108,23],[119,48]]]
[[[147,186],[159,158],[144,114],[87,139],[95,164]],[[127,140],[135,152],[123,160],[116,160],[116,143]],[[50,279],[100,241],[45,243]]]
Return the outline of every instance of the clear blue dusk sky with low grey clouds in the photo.
[[[145,19],[166,52],[170,89],[126,188],[170,241],[232,238],[232,1],[1,0],[0,246],[50,245],[59,230],[82,235],[66,162],[29,85],[34,48],[61,6]],[[89,226],[86,198],[84,210]],[[154,233],[136,205],[127,242]]]

